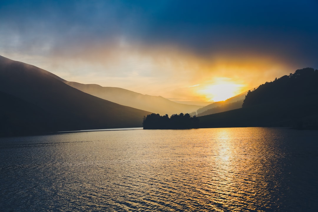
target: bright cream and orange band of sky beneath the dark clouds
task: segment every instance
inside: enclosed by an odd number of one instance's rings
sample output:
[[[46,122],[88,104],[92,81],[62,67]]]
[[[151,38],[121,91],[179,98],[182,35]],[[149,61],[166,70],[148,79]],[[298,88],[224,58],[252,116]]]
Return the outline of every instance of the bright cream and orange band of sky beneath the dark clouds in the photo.
[[[23,58],[22,62],[68,81],[120,87],[172,101],[223,101],[293,70],[277,58],[263,55],[201,58],[169,46],[140,47],[138,51],[128,44],[104,47],[88,48],[72,57],[7,57]]]

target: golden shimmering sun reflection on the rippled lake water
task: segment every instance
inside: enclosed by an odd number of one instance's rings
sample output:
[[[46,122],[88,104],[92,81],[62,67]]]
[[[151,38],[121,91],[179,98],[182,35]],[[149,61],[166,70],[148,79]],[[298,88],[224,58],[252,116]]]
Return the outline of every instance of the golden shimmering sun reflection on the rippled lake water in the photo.
[[[208,142],[211,154],[206,189],[211,191],[211,207],[215,211],[267,211],[275,198],[275,192],[268,187],[279,187],[274,185],[279,177],[275,171],[280,173],[281,167],[273,155],[270,160],[266,158],[271,144],[262,140],[264,132],[255,138],[241,137],[239,131],[246,129],[214,129]]]

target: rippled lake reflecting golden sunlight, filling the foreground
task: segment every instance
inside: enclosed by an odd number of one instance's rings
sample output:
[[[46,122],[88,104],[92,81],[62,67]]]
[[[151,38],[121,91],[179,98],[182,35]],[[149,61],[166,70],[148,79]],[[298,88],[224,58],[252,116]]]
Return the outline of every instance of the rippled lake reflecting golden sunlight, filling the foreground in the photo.
[[[318,131],[0,138],[1,211],[317,211]]]

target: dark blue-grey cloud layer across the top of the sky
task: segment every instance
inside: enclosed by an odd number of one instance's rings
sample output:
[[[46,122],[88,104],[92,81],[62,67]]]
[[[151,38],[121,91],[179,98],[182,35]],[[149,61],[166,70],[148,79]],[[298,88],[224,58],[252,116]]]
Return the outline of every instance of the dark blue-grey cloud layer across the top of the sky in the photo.
[[[4,1],[1,46],[71,54],[83,51],[82,44],[112,44],[124,37],[201,56],[261,51],[311,65],[317,58],[317,7],[314,0]]]

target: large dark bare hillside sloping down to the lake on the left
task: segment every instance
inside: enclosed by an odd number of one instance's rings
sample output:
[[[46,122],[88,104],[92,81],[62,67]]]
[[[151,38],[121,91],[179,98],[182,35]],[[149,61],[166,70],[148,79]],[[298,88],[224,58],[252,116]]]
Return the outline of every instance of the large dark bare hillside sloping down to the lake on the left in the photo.
[[[150,112],[122,106],[66,85],[43,69],[0,56],[1,135],[142,127]],[[10,123],[10,124],[7,124]],[[31,127],[33,126],[33,127]]]

